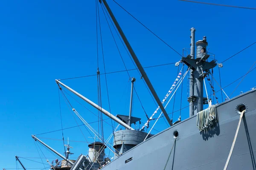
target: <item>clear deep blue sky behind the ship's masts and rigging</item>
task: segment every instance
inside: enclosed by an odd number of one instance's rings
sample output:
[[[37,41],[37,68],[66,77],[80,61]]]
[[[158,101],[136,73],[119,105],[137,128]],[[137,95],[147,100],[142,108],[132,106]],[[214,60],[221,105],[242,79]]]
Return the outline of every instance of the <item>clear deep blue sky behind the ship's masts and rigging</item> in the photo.
[[[113,1],[108,0],[116,19],[123,28],[131,46],[143,66],[160,65],[177,62],[180,56],[154,35],[143,28]],[[214,53],[221,62],[236,54],[256,41],[255,10],[209,6],[196,3],[172,1],[138,1],[129,2],[117,0],[131,14],[137,17],[148,28],[163,38],[179,53],[183,48],[189,48],[191,27],[196,28],[196,41],[207,36],[209,52]],[[208,2],[208,1],[207,1]],[[222,3],[234,6],[256,7],[253,0],[215,0],[212,3]],[[8,0],[0,3],[0,165],[1,168],[16,168],[15,155],[22,157],[39,157],[38,151],[31,138],[32,134],[61,129],[60,111],[58,105],[58,88],[55,79],[78,77],[96,74],[96,14],[95,1],[84,0],[37,0],[17,1]],[[102,40],[105,55],[106,71],[124,70],[124,65],[113,43],[109,28],[100,8]],[[115,34],[116,39],[118,37]],[[122,56],[128,69],[134,68],[122,44],[118,40]],[[228,85],[244,75],[255,62],[256,46],[236,55],[224,62],[221,68],[222,85]],[[99,51],[101,54],[101,51]],[[255,67],[255,66],[254,66]],[[102,55],[99,55],[99,69],[103,73]],[[174,65],[147,68],[145,71],[151,79],[160,99],[168,92],[177,76]],[[218,78],[218,68],[214,70]],[[137,78],[135,83],[138,95],[145,111],[151,115],[156,106],[148,94],[145,85],[137,71],[130,71],[130,75]],[[248,91],[256,86],[255,71],[247,75],[233,96],[240,91]],[[102,75],[102,106],[109,110],[106,94],[105,77]],[[129,91],[128,75],[125,72],[108,74],[108,90],[110,95],[111,112],[128,115]],[[189,105],[187,97],[187,78],[183,85],[182,107]],[[97,102],[97,79],[87,77],[63,80],[64,83],[79,91],[79,93]],[[236,82],[224,90],[229,95],[239,83]],[[218,86],[215,83],[215,89]],[[180,89],[177,91],[175,111],[180,108]],[[208,88],[208,93],[210,93]],[[221,94],[216,94],[221,101]],[[78,98],[76,98],[78,99]],[[97,121],[98,118],[76,101],[69,97],[73,107],[87,122]],[[87,108],[97,114],[87,103],[78,99]],[[166,108],[172,112],[173,101]],[[63,127],[76,126],[72,111],[67,107],[61,96],[61,111]],[[179,117],[176,112],[173,119]],[[137,97],[134,97],[133,116],[146,121]],[[158,114],[156,115],[158,116]],[[188,110],[181,112],[181,118],[189,116]],[[106,116],[104,115],[104,118]],[[76,119],[79,123],[81,122]],[[108,120],[111,124],[111,121]],[[153,123],[151,123],[152,125]],[[98,129],[98,124],[91,124]],[[156,125],[157,130],[167,127],[163,119]],[[90,134],[84,127],[81,130],[88,142]],[[112,131],[111,126],[105,124],[104,135],[107,138]],[[152,133],[157,133],[153,130]],[[61,131],[38,135],[38,137],[61,139]],[[78,127],[64,130],[64,138],[74,147],[75,153],[71,159],[83,153],[87,154],[87,143]],[[63,143],[58,140],[42,139],[51,147],[63,153]],[[41,147],[45,156],[52,161],[52,155]],[[41,152],[39,150],[39,152]],[[41,154],[44,158],[44,156]],[[40,159],[33,159],[41,161]],[[42,164],[21,159],[27,168],[39,167]],[[43,162],[47,164],[45,159]],[[46,167],[49,167],[45,165]]]

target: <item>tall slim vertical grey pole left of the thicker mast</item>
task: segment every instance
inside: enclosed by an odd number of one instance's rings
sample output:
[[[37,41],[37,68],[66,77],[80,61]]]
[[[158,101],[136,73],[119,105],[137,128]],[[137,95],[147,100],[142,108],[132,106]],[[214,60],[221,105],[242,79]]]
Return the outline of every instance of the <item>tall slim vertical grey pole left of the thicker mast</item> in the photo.
[[[190,47],[190,56],[191,59],[195,59],[195,28],[191,28],[191,47]],[[194,115],[194,102],[193,102],[193,96],[194,96],[194,88],[195,88],[195,79],[194,79],[194,71],[193,69],[190,69],[190,101],[189,101],[189,117],[192,117]]]

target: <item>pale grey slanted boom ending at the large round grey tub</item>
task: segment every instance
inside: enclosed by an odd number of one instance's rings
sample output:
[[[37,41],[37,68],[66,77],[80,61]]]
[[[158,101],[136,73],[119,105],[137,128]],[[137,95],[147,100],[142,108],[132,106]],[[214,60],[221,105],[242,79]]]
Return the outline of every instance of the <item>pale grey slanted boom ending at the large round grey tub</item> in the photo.
[[[106,111],[105,109],[99,107],[98,105],[96,105],[95,103],[93,103],[92,101],[90,101],[89,99],[87,99],[86,97],[82,96],[81,94],[79,94],[78,92],[74,91],[72,88],[68,87],[67,85],[64,85],[62,82],[60,82],[59,80],[55,80],[57,83],[63,85],[65,88],[67,88],[69,91],[71,91],[73,94],[76,94],[77,96],[79,96],[81,99],[83,99],[85,102],[89,103],[90,105],[92,105],[94,108],[98,109],[99,111],[101,111],[102,113],[104,113],[106,116],[110,117],[111,119],[113,119],[114,121],[116,121],[117,123],[119,123],[120,125],[124,126],[127,129],[130,130],[134,130],[133,128],[131,128],[130,126],[126,125],[124,122],[122,122],[120,119],[118,119],[116,116],[114,116],[113,114],[109,113],[108,111]]]

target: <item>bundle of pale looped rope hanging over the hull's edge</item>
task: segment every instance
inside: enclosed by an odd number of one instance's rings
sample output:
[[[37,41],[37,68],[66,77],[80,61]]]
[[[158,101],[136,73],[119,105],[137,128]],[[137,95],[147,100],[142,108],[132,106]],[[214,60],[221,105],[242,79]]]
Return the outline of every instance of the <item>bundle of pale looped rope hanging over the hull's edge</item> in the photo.
[[[200,132],[203,131],[205,128],[213,125],[213,123],[216,121],[216,113],[216,105],[211,105],[204,111],[200,111],[197,113],[196,126],[198,127]]]

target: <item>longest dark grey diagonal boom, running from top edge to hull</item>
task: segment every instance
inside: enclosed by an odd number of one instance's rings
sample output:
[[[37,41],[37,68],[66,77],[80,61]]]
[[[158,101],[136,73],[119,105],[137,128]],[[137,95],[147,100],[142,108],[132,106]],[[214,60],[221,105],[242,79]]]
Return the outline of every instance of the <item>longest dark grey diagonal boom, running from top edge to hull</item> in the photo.
[[[100,2],[101,2],[101,0],[100,0]],[[110,16],[111,16],[111,18],[112,18],[112,20],[113,20],[113,22],[114,22],[114,24],[115,24],[117,30],[119,31],[119,34],[121,35],[122,40],[125,42],[125,45],[126,45],[126,47],[128,48],[128,50],[129,50],[129,52],[130,52],[130,54],[131,54],[131,57],[134,59],[134,62],[135,62],[135,64],[137,65],[137,67],[138,67],[138,69],[139,69],[139,71],[140,71],[140,74],[141,74],[142,77],[144,78],[146,84],[148,85],[149,90],[151,91],[152,95],[154,96],[154,99],[156,100],[156,102],[157,102],[157,104],[159,105],[161,111],[163,112],[164,116],[166,117],[166,120],[168,121],[169,125],[172,126],[172,121],[171,121],[171,119],[169,118],[169,116],[168,116],[166,110],[164,109],[164,107],[163,107],[163,105],[162,105],[162,103],[161,103],[159,97],[157,96],[157,93],[156,93],[156,91],[154,90],[154,88],[153,88],[151,82],[149,81],[148,76],[147,76],[147,74],[145,73],[145,71],[144,71],[142,65],[140,64],[139,59],[137,58],[136,54],[134,53],[133,49],[131,48],[130,43],[128,42],[127,38],[125,37],[125,34],[124,34],[123,31],[122,31],[122,28],[119,26],[119,24],[118,24],[116,18],[114,17],[114,15],[113,15],[111,9],[109,8],[108,3],[106,2],[106,0],[102,0],[102,2],[104,3],[105,7],[107,8],[108,13],[110,14]]]

